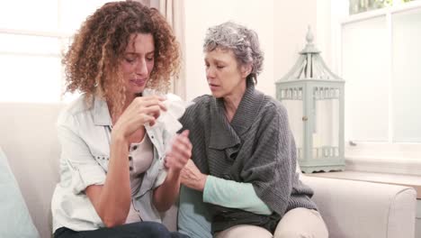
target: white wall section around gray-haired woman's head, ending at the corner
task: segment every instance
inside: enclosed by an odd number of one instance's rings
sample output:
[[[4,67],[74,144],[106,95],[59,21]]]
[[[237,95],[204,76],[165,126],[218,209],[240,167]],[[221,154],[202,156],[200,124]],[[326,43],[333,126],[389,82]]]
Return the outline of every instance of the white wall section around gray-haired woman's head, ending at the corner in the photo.
[[[204,72],[202,43],[210,26],[227,21],[245,24],[259,35],[265,59],[257,88],[273,95],[273,0],[185,0],[184,5],[186,99],[210,93]]]

